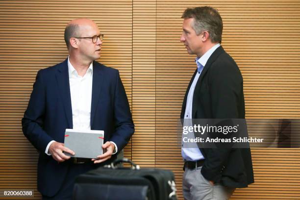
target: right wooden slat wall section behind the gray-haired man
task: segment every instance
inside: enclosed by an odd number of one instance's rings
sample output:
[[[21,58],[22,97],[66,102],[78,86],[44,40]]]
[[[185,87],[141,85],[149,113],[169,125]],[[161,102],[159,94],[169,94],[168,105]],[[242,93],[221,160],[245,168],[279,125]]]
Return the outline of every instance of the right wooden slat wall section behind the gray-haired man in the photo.
[[[179,42],[186,7],[211,5],[223,17],[222,45],[244,77],[246,116],[300,118],[300,1],[157,0],[156,138],[175,136],[174,119],[196,69]],[[156,149],[166,147],[156,139]],[[168,148],[168,145],[167,145]],[[155,155],[174,170],[181,192],[180,149]],[[252,149],[255,184],[231,199],[300,199],[300,150]]]

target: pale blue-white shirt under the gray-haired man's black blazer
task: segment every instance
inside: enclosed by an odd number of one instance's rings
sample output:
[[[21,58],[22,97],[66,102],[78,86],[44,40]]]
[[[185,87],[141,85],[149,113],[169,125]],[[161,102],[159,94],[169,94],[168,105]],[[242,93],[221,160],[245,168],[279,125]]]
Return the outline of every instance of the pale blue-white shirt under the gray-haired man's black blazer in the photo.
[[[197,68],[199,69],[195,78],[192,82],[192,85],[190,87],[187,99],[186,99],[186,107],[185,107],[185,113],[184,113],[184,119],[192,119],[192,110],[193,110],[193,96],[194,96],[194,90],[197,84],[197,81],[201,75],[202,70],[205,67],[205,64],[207,62],[207,60],[209,59],[209,57],[211,56],[211,54],[218,48],[220,47],[220,44],[216,44],[215,46],[213,46],[210,50],[206,51],[200,58],[197,57],[195,59],[196,64],[197,64]],[[184,126],[193,126],[191,125],[191,121],[192,120],[184,120],[183,125]],[[189,133],[189,138],[195,138],[194,133]],[[202,155],[197,143],[192,143],[189,144],[188,146],[189,148],[181,148],[181,155],[183,157],[184,160],[188,160],[188,161],[197,161],[197,160],[202,160],[204,159],[204,156]]]

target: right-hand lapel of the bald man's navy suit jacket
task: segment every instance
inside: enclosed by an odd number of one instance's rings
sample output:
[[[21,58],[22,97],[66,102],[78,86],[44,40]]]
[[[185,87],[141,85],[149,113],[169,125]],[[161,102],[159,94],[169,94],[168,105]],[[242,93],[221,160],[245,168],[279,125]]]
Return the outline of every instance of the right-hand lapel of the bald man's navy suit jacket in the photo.
[[[92,86],[92,105],[91,105],[91,128],[93,127],[94,117],[97,110],[100,92],[103,87],[103,73],[101,66],[97,62],[93,62],[93,86]]]

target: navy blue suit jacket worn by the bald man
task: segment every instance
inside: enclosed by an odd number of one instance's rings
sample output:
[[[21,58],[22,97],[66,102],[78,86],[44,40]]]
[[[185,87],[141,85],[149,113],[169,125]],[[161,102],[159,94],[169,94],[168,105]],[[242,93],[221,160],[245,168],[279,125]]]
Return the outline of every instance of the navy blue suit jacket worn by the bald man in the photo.
[[[51,140],[64,143],[66,128],[73,128],[68,59],[38,72],[22,126],[25,136],[40,152],[38,190],[43,195],[53,196],[71,166],[71,162],[58,163],[45,153]],[[118,70],[96,61],[93,62],[91,129],[104,130],[104,143],[115,142],[118,151],[125,147],[134,132]],[[113,155],[107,162],[115,158]]]

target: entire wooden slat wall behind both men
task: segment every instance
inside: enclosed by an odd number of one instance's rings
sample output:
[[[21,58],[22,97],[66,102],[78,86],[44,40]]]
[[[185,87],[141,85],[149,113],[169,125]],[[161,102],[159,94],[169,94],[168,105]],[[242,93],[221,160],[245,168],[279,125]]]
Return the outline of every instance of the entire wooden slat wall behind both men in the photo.
[[[175,173],[182,198],[176,120],[195,56],[179,42],[186,7],[211,5],[223,43],[244,77],[249,119],[300,118],[299,0],[1,0],[0,188],[34,188],[37,152],[21,130],[35,75],[63,61],[65,25],[94,20],[104,33],[100,62],[120,70],[136,132],[125,157]],[[231,199],[300,199],[300,150],[252,149],[255,184]]]

